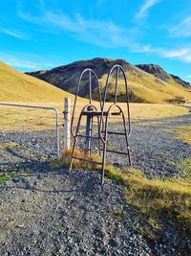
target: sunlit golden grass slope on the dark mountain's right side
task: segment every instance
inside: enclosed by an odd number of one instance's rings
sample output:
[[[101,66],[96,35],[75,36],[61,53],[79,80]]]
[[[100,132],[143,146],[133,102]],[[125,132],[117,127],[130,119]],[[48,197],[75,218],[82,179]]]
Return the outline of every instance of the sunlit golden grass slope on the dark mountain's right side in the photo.
[[[106,75],[102,76],[100,80],[101,84],[105,83],[106,77]],[[127,72],[126,77],[129,84],[131,102],[164,104],[176,98],[182,98],[191,102],[191,88],[183,87],[173,79],[161,81],[154,75],[144,72],[144,75],[141,76],[136,71]],[[112,94],[114,90],[115,79],[112,78],[108,92]],[[123,80],[119,80],[118,98],[120,101],[125,99],[124,93],[124,82]]]

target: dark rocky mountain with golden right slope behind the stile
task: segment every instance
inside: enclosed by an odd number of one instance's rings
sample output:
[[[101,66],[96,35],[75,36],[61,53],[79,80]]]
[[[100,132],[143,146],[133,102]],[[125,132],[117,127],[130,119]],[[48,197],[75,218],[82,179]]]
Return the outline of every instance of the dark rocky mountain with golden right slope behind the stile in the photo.
[[[55,67],[52,70],[40,70],[29,72],[28,75],[43,81],[48,81],[58,88],[75,93],[76,84],[80,73],[85,68],[92,68],[100,81],[101,87],[104,86],[107,73],[110,68],[119,64],[123,67],[129,84],[130,100],[139,103],[166,103],[172,99],[186,99],[191,101],[191,87],[189,83],[181,81],[180,78],[170,75],[158,65],[133,65],[124,59],[93,58],[75,61],[68,65]],[[108,90],[108,100],[113,98],[114,76],[110,81]],[[185,86],[185,84],[187,84]],[[84,79],[79,90],[79,95],[86,97],[88,94],[88,77]],[[96,96],[96,82],[93,81],[94,97]],[[118,100],[125,100],[125,88],[119,77]]]

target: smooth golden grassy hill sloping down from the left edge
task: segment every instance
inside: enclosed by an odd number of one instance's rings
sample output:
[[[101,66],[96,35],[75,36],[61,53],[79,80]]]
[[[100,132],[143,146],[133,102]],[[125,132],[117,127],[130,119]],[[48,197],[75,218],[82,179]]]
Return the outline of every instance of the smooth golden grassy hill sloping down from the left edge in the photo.
[[[64,97],[72,97],[68,92],[53,84],[25,75],[0,61],[0,102],[11,103],[63,103]]]

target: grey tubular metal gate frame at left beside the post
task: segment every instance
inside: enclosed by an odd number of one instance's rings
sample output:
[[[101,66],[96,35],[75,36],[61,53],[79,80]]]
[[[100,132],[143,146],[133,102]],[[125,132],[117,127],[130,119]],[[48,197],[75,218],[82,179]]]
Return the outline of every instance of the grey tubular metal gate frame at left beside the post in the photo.
[[[15,106],[15,107],[25,107],[25,108],[37,108],[37,109],[47,109],[47,110],[53,110],[54,113],[55,113],[55,126],[56,126],[56,130],[55,130],[55,139],[56,139],[56,151],[49,151],[49,150],[46,150],[44,148],[41,148],[41,147],[37,147],[35,145],[32,145],[31,143],[26,143],[22,140],[16,140],[16,139],[13,139],[11,138],[10,136],[7,136],[5,134],[2,134],[0,133],[0,136],[6,138],[6,139],[9,139],[13,142],[16,142],[16,143],[19,143],[19,144],[22,144],[22,145],[25,145],[25,146],[28,146],[30,148],[33,148],[33,149],[36,149],[36,150],[40,150],[40,151],[46,151],[46,152],[49,152],[49,153],[53,153],[53,154],[56,154],[57,156],[59,156],[60,154],[60,146],[59,146],[59,115],[58,115],[58,111],[55,107],[49,107],[49,106],[40,106],[40,105],[16,105],[16,104],[2,104],[0,103],[0,106],[1,105],[4,105],[4,106]]]

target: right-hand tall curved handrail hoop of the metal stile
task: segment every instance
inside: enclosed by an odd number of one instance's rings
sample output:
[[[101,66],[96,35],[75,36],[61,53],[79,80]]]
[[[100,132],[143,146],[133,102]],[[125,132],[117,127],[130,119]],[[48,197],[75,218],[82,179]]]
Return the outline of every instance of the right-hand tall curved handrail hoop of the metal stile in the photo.
[[[129,107],[129,92],[128,92],[128,86],[127,86],[127,79],[126,79],[126,75],[125,75],[125,71],[124,69],[120,66],[120,65],[114,65],[110,72],[108,73],[107,76],[107,80],[106,80],[106,85],[105,85],[105,90],[104,90],[104,96],[103,96],[103,103],[102,103],[102,107],[101,107],[101,125],[102,126],[102,120],[103,120],[103,111],[104,111],[104,106],[105,106],[105,102],[106,102],[106,97],[107,97],[107,90],[108,90],[108,86],[109,86],[109,81],[110,81],[110,77],[112,75],[112,73],[114,72],[114,70],[117,69],[117,77],[116,77],[116,86],[115,86],[115,103],[117,104],[117,83],[118,83],[118,74],[119,71],[122,72],[123,75],[123,79],[125,82],[125,91],[126,91],[126,103],[127,103],[127,119],[128,119],[128,136],[131,133],[131,120],[130,120],[130,107]],[[100,135],[101,136],[101,135]]]

